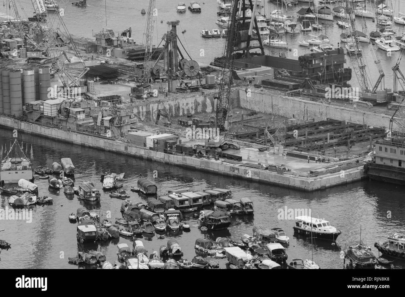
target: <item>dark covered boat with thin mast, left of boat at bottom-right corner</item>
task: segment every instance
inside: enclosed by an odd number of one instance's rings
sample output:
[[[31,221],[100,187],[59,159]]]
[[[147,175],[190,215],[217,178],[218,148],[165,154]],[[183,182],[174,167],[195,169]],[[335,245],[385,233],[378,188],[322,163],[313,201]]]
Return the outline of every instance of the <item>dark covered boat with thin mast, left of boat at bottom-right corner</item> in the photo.
[[[343,252],[345,259],[349,259],[354,268],[374,269],[377,264],[375,255],[361,240],[360,242],[346,244],[346,249]]]

